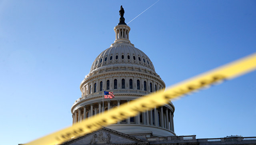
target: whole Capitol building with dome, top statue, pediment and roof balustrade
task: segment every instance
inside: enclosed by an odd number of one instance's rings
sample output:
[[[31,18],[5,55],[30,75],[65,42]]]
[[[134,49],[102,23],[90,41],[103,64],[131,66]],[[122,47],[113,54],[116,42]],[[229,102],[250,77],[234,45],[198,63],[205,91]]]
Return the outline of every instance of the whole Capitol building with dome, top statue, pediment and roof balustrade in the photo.
[[[150,58],[130,42],[131,28],[124,22],[122,6],[119,12],[114,43],[95,58],[90,73],[80,83],[81,97],[71,107],[73,124],[166,87]],[[103,99],[103,91],[113,92],[115,97]],[[174,111],[169,101],[63,145],[256,144],[256,137],[196,139],[196,135],[176,136]]]

